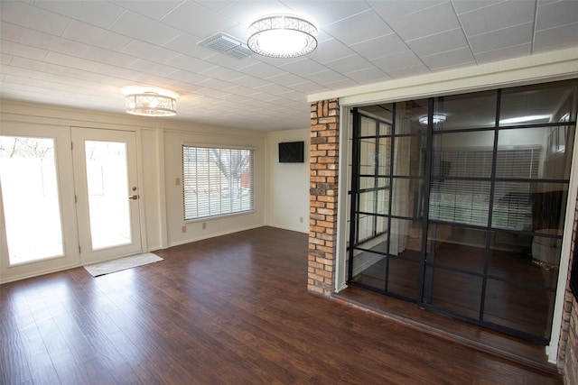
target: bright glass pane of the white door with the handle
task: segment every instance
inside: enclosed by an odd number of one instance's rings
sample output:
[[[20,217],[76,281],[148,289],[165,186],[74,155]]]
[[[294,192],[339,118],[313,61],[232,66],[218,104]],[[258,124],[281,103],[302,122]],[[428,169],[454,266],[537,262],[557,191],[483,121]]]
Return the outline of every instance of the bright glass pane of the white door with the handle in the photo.
[[[92,249],[132,243],[126,143],[86,141],[85,153]]]

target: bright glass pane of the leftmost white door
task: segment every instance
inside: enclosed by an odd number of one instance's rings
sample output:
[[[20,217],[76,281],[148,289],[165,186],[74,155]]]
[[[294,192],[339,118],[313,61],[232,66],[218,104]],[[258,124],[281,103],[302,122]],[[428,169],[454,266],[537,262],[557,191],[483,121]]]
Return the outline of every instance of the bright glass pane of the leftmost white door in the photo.
[[[0,179],[10,264],[63,255],[54,140],[0,136]]]

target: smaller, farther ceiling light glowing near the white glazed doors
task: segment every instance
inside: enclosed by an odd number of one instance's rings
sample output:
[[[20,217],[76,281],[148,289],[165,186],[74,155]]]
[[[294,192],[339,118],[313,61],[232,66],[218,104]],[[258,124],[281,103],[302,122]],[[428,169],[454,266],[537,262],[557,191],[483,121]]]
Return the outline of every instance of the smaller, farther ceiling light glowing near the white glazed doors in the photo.
[[[125,88],[126,112],[141,116],[177,115],[176,95],[161,89]]]

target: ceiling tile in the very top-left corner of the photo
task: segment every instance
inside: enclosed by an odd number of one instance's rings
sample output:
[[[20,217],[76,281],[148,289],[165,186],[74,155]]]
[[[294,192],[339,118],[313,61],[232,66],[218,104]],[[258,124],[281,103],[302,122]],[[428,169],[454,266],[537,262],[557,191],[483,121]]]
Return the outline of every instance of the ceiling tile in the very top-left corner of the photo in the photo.
[[[57,36],[60,36],[70,23],[68,17],[19,1],[3,1],[0,20]]]

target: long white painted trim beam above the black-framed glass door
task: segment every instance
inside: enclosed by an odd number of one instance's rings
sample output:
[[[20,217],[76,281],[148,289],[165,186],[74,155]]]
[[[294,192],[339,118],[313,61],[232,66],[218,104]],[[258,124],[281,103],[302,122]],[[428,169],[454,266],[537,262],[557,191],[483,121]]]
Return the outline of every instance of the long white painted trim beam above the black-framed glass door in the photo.
[[[403,101],[578,77],[578,49],[557,50],[475,67],[400,78],[312,94],[307,101],[339,98],[340,105]]]

